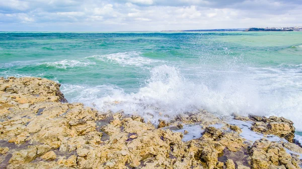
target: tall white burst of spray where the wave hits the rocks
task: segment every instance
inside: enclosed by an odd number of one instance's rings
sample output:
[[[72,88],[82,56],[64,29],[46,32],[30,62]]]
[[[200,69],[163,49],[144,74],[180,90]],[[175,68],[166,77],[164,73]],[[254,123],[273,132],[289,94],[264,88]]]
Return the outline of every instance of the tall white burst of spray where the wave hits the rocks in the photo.
[[[93,105],[100,111],[138,114],[155,124],[158,119],[197,109],[218,115],[275,115],[291,119],[302,130],[301,91],[286,94],[274,86],[267,89],[263,87],[266,84],[246,75],[217,81],[216,87],[210,87],[184,78],[179,69],[167,65],[153,68],[150,74],[146,86],[137,93],[115,91],[92,101]]]

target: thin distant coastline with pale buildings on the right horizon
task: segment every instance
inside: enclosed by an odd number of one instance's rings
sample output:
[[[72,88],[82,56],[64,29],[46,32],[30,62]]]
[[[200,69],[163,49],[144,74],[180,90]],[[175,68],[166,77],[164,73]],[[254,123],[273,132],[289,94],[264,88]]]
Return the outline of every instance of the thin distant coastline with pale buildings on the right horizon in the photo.
[[[161,32],[261,32],[261,31],[302,31],[302,27],[266,27],[266,28],[238,28],[238,29],[197,29],[197,30],[167,30]]]

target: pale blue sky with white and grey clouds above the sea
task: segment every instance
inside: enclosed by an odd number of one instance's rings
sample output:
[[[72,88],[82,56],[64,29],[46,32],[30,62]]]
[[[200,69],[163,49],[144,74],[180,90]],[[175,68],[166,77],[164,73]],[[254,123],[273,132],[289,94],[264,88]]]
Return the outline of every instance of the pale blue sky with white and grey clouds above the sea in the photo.
[[[0,0],[0,31],[302,26],[302,0]]]

